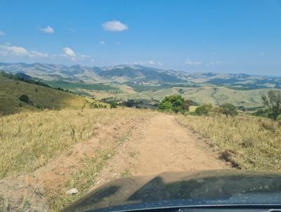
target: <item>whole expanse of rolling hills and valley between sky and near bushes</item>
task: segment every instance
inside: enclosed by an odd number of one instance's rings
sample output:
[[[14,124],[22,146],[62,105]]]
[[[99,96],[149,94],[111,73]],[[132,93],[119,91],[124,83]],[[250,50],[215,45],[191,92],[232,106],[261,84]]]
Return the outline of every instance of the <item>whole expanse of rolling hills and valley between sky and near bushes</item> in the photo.
[[[81,65],[3,63],[0,69],[26,74],[45,84],[96,99],[162,100],[181,94],[214,105],[231,102],[240,108],[261,107],[261,94],[281,88],[281,77],[249,74],[188,73],[141,65],[86,67]]]

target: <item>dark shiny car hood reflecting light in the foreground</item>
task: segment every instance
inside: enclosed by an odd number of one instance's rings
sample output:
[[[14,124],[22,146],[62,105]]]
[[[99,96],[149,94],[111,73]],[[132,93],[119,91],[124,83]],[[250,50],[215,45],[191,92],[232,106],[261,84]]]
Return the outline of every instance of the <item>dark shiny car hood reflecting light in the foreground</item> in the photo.
[[[281,205],[281,173],[218,170],[122,178],[93,190],[63,211],[267,204]]]

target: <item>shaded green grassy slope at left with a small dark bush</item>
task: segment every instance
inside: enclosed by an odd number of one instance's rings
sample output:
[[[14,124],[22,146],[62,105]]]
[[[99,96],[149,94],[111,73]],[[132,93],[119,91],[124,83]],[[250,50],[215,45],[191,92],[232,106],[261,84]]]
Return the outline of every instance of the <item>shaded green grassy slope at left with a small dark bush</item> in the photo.
[[[44,110],[63,108],[81,109],[91,107],[94,100],[54,88],[29,84],[25,81],[0,77],[0,114],[12,114],[26,110]],[[30,103],[19,100],[20,95],[27,95]]]

